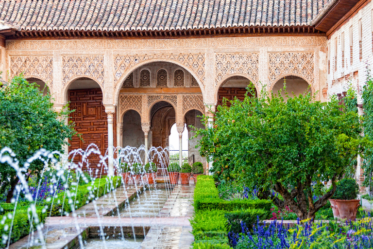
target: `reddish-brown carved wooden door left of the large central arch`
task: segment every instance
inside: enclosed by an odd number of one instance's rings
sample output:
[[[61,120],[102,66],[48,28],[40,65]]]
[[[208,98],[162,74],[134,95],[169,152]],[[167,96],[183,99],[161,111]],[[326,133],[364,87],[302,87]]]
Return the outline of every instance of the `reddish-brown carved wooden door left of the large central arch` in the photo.
[[[82,148],[85,150],[91,143],[95,143],[102,155],[105,154],[108,144],[107,137],[107,114],[102,104],[101,89],[73,89],[68,90],[68,101],[70,109],[75,110],[70,114],[69,121],[75,123],[75,130],[81,134],[83,141],[74,136],[70,141],[69,151]],[[114,114],[114,146],[116,144],[116,119]],[[81,157],[75,157],[74,162],[81,160]],[[94,170],[100,161],[98,156],[89,157],[89,168]],[[86,165],[84,165],[86,169]],[[101,171],[101,168],[100,168]],[[100,174],[100,173],[99,173]],[[103,174],[106,174],[103,173]]]

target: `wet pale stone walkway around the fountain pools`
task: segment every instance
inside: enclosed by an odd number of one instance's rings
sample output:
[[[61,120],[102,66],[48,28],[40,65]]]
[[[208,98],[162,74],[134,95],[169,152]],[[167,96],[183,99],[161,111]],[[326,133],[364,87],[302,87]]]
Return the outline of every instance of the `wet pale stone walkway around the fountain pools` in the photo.
[[[157,215],[125,217],[114,212],[118,206],[123,207],[128,199],[137,196],[136,189],[128,188],[124,193],[123,188],[118,188],[109,195],[100,197],[95,203],[89,203],[78,209],[76,215],[48,218],[43,228],[44,236],[48,229],[46,247],[48,249],[79,248],[78,235],[86,232],[89,227],[101,226],[102,228],[122,227],[127,230],[134,227],[140,231],[142,228],[150,227],[139,249],[189,249],[194,241],[189,223],[189,218],[194,212],[193,182],[190,181],[190,185],[176,185],[169,192],[166,203]],[[37,238],[37,232],[33,236]],[[10,248],[30,248],[29,239],[29,236],[26,236],[12,244]],[[40,246],[40,244],[34,245],[33,248],[40,248]]]

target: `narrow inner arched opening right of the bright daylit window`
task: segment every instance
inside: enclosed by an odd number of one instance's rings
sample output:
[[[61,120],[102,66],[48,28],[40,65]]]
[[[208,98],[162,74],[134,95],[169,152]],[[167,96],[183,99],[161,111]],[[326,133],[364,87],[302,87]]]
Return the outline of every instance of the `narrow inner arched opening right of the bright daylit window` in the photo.
[[[200,140],[200,138],[193,138],[195,135],[194,129],[190,128],[190,125],[193,125],[195,128],[205,128],[202,123],[202,112],[199,110],[189,110],[186,112],[184,120],[186,123],[186,128],[188,131],[187,137],[188,137],[188,163],[192,165],[194,162],[202,162],[203,165],[206,165],[206,158],[202,157],[200,155],[200,152],[198,148],[196,148],[197,142]],[[184,146],[183,146],[184,149]]]

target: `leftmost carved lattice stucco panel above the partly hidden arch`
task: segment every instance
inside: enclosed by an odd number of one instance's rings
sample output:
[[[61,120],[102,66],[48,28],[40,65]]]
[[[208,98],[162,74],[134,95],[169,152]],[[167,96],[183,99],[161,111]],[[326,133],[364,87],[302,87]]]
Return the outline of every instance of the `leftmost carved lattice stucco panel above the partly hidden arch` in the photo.
[[[23,73],[26,78],[38,78],[51,90],[53,83],[52,55],[12,55],[10,56],[10,77]]]

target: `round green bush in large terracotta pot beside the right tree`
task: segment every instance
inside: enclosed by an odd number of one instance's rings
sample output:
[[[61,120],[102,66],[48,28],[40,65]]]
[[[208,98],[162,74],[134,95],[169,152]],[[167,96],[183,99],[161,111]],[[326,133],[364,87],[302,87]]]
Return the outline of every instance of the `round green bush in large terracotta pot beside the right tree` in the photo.
[[[341,219],[356,219],[357,209],[360,206],[360,200],[356,199],[358,193],[359,185],[355,179],[343,178],[337,182],[337,190],[333,197]]]

